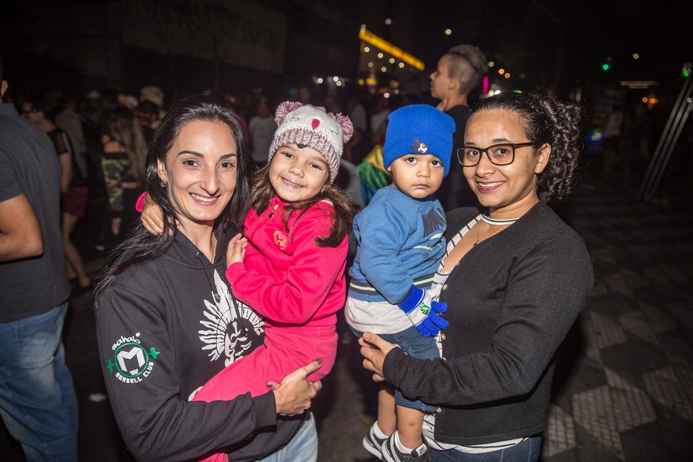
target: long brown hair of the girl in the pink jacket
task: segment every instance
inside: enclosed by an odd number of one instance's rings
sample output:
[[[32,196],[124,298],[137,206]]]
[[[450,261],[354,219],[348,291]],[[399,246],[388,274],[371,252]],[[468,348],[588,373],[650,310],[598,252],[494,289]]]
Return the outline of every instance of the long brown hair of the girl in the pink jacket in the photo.
[[[253,190],[250,195],[250,207],[253,208],[258,215],[266,211],[270,206],[270,201],[277,195],[275,189],[270,183],[270,166],[272,161],[269,161],[263,168],[257,170],[253,174]],[[351,231],[351,222],[354,220],[354,215],[358,208],[351,202],[341,187],[327,182],[325,187],[316,196],[306,199],[305,201],[292,202],[284,208],[284,225],[287,232],[290,232],[288,227],[289,218],[293,213],[299,213],[298,218],[305,213],[308,208],[317,204],[319,201],[327,200],[332,202],[335,208],[335,214],[331,217],[332,227],[330,234],[327,236],[316,236],[316,244],[320,247],[337,247],[342,243],[344,237]],[[298,220],[296,218],[296,220]],[[296,222],[294,222],[295,224]]]

